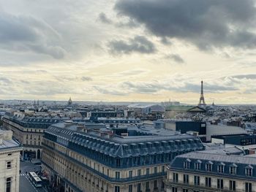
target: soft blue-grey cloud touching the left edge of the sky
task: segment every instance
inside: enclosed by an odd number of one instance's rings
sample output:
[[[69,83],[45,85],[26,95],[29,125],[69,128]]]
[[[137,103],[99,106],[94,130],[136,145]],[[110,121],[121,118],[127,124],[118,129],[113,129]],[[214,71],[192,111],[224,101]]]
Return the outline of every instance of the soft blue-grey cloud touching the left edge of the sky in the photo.
[[[59,34],[43,20],[0,12],[0,49],[18,53],[34,52],[64,58]]]

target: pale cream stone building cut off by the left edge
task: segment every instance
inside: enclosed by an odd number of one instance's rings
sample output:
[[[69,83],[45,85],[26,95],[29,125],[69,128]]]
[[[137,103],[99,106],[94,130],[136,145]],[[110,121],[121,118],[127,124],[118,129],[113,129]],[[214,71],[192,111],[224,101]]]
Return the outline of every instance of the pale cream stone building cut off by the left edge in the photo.
[[[12,131],[0,131],[0,191],[18,192],[20,181],[20,144]]]

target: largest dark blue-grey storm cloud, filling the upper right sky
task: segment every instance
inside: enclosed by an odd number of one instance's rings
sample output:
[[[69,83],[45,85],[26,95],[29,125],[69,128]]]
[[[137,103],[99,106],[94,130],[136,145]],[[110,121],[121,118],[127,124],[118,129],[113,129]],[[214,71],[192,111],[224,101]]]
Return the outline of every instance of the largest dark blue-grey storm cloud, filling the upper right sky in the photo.
[[[255,47],[253,0],[118,0],[115,9],[157,37],[213,47]]]

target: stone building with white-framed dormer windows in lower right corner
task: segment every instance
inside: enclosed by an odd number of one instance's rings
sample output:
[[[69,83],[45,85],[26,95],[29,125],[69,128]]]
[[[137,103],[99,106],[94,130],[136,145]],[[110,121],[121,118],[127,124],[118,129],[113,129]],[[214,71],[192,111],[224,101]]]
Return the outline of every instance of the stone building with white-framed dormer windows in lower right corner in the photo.
[[[256,191],[256,158],[192,152],[167,166],[167,192]]]

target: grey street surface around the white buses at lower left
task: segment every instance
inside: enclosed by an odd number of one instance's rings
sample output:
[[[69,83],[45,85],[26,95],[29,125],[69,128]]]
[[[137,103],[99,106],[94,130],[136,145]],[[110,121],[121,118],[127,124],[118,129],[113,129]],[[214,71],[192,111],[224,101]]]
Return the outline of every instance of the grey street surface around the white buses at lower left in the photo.
[[[20,191],[21,192],[47,192],[45,188],[35,188],[29,180],[29,172],[37,172],[41,169],[40,166],[34,165],[29,161],[20,161]]]

